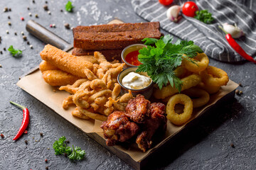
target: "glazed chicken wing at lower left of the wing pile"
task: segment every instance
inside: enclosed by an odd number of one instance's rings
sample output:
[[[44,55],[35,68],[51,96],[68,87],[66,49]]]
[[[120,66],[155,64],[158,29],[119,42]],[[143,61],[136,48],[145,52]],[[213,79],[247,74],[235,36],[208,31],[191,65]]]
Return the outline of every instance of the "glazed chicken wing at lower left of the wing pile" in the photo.
[[[136,123],[129,121],[124,112],[114,111],[107,117],[107,121],[103,122],[100,128],[103,129],[104,137],[107,139],[107,146],[116,145],[117,142],[129,140],[139,131]]]

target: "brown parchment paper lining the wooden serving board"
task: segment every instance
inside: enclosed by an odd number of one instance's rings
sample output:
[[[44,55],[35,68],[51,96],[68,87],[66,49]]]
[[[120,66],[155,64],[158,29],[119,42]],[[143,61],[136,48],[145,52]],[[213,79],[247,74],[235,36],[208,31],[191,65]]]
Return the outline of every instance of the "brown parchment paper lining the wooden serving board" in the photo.
[[[28,94],[31,94],[32,96],[37,98],[39,101],[46,104],[46,106],[53,109],[53,111],[55,111],[60,116],[68,120],[70,123],[73,123],[73,125],[80,128],[80,130],[82,130],[83,132],[86,132],[86,133],[97,132],[98,135],[104,138],[102,129],[100,128],[100,125],[102,123],[101,121],[82,120],[80,118],[75,118],[73,117],[73,115],[71,115],[71,112],[75,107],[71,107],[68,110],[64,110],[62,108],[63,99],[69,96],[70,94],[68,94],[68,92],[66,91],[58,91],[57,89],[50,86],[49,84],[46,84],[39,70],[36,72],[33,72],[32,74],[29,74],[26,77],[23,77],[20,81],[18,81],[17,85],[20,86],[21,89],[23,89],[24,91],[27,91]],[[210,101],[208,102],[207,106],[205,106],[204,108],[194,109],[191,120],[193,120],[194,118],[197,118],[198,115],[201,115],[201,113],[203,113],[203,111],[206,110],[206,108],[215,104],[218,100],[220,100],[220,98],[229,94],[237,87],[238,87],[238,84],[230,80],[227,86],[221,87],[218,93],[210,96]],[[162,142],[169,140],[171,137],[176,135],[176,133],[178,133],[185,126],[186,124],[181,126],[176,126],[171,124],[169,120],[167,120],[167,130],[166,130],[164,139],[161,142],[159,142],[159,144],[155,145],[154,148],[149,149],[146,152],[142,152],[137,147],[136,144],[133,144],[128,148],[121,145],[114,146],[114,147],[126,154],[129,154],[129,156],[132,159],[134,159],[134,161],[139,162],[139,160],[144,159],[151,151],[153,152],[154,149],[157,149],[157,147],[159,147],[159,145],[161,145]]]

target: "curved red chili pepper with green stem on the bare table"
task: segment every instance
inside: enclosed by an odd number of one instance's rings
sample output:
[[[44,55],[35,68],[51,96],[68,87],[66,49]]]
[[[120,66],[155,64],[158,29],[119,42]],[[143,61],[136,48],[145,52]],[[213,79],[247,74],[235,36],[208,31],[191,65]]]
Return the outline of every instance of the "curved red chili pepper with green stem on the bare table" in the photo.
[[[14,140],[18,140],[18,137],[20,137],[28,127],[29,111],[28,111],[28,108],[26,108],[25,106],[21,106],[18,103],[14,103],[13,101],[10,101],[10,103],[14,104],[15,106],[18,106],[23,110],[23,120],[22,120],[21,128],[18,130],[17,135],[14,137]]]

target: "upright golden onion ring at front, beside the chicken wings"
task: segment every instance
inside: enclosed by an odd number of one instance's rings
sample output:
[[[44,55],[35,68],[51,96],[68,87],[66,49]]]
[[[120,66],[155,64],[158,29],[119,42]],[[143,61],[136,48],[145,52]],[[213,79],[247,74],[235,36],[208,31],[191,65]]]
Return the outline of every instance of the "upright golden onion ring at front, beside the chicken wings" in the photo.
[[[183,113],[178,114],[175,112],[174,107],[177,103],[184,105]],[[191,118],[193,112],[193,102],[191,98],[185,94],[176,94],[171,96],[166,106],[167,118],[174,123],[174,125],[182,125]]]

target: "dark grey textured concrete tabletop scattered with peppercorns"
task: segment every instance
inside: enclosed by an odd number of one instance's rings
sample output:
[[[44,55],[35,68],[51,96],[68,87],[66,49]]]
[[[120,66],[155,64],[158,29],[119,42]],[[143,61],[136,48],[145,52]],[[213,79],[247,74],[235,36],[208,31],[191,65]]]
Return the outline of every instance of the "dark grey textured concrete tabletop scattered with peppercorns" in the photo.
[[[4,134],[4,138],[0,138],[0,169],[46,169],[46,166],[49,169],[132,169],[16,86],[18,77],[41,62],[39,52],[44,44],[26,32],[25,25],[29,19],[41,23],[68,42],[72,42],[73,35],[71,30],[64,27],[64,23],[70,23],[70,27],[88,26],[107,23],[115,17],[127,23],[144,21],[134,13],[129,0],[74,0],[73,13],[65,12],[66,2],[48,1],[50,15],[43,9],[46,1],[0,2],[0,51],[3,52],[0,54],[0,132]],[[5,6],[11,11],[4,13]],[[32,16],[28,13],[32,13]],[[38,18],[35,17],[36,13]],[[25,21],[21,21],[21,17]],[[56,28],[50,28],[50,24],[55,24]],[[9,30],[9,34],[6,30]],[[33,49],[23,40],[21,31]],[[22,50],[23,56],[12,57],[4,50],[10,45]],[[210,64],[224,69],[233,81],[242,83],[238,89],[243,94],[223,103],[223,107],[176,137],[174,146],[166,148],[160,154],[162,157],[152,159],[151,169],[256,168],[256,65],[249,62],[227,64],[215,60],[210,60]],[[9,101],[21,103],[31,112],[28,134],[16,142],[12,139],[21,125],[22,111],[11,106]],[[40,132],[43,132],[43,137],[39,135]],[[55,156],[53,142],[63,135],[73,145],[85,149],[84,160],[70,162],[63,156]],[[28,140],[28,145],[25,140]],[[231,147],[231,144],[235,147]],[[45,159],[48,159],[48,163]]]

